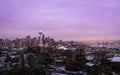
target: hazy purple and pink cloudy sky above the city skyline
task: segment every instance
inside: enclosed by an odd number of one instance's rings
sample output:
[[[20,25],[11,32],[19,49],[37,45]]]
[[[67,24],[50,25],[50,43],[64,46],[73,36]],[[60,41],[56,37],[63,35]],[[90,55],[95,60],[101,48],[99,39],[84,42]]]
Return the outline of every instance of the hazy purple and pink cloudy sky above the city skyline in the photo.
[[[0,0],[0,38],[118,40],[120,0]]]

